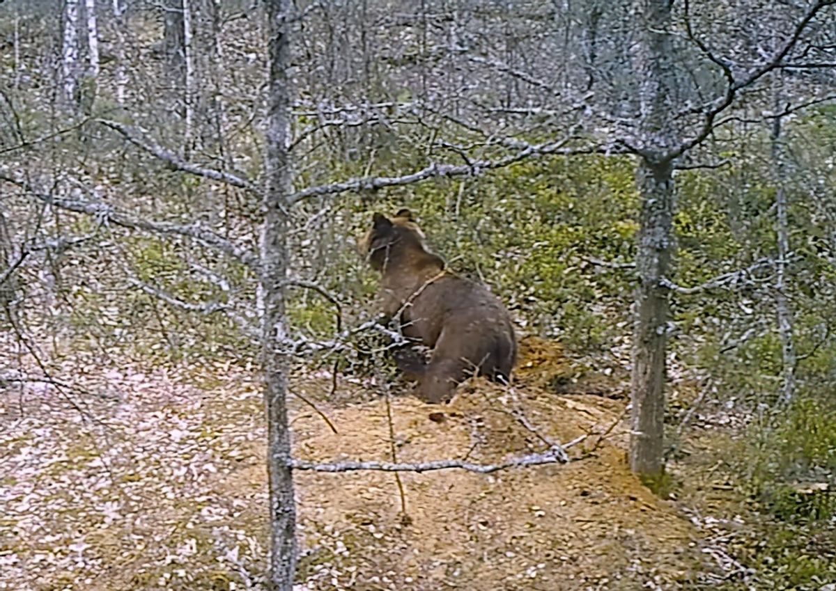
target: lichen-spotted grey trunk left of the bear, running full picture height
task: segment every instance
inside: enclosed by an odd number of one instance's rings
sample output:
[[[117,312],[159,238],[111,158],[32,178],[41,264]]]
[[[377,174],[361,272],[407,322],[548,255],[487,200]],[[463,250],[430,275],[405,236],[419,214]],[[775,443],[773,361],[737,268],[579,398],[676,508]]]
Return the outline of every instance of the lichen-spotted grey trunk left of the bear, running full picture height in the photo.
[[[288,195],[291,172],[290,48],[288,17],[292,0],[265,0],[268,16],[268,129],[267,194],[262,235],[261,292],[263,295],[263,376],[268,422],[268,477],[270,487],[269,588],[292,591],[296,570],[296,504],[290,462],[288,427],[288,371],[290,359],[278,353],[288,334],[285,281],[288,272]]]

